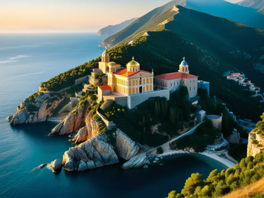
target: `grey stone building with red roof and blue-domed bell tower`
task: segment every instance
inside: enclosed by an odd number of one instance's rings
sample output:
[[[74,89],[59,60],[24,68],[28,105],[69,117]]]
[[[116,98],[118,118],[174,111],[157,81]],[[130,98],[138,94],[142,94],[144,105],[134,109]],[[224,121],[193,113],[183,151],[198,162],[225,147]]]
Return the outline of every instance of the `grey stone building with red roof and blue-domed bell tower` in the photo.
[[[188,88],[189,97],[197,96],[197,84],[198,84],[198,76],[189,74],[189,66],[187,62],[184,60],[181,62],[180,69],[178,72],[161,74],[158,76],[154,76],[155,82],[154,86],[158,89],[171,89],[175,91],[180,89],[181,86],[185,86]]]

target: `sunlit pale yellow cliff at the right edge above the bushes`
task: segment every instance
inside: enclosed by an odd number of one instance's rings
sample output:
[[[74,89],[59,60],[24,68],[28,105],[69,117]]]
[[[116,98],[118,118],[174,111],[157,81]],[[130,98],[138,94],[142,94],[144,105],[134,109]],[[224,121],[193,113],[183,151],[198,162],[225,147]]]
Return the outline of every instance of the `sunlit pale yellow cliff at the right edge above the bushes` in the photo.
[[[260,153],[264,150],[264,138],[261,135],[256,133],[256,130],[252,130],[248,134],[248,147],[247,147],[247,156],[255,156],[257,153]]]

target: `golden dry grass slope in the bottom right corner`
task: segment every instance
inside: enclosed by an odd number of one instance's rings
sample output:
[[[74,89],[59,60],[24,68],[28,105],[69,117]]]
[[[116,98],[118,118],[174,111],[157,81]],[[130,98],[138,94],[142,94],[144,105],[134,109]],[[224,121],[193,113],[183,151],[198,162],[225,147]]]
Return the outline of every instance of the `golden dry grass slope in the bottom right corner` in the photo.
[[[264,178],[244,188],[229,193],[221,198],[248,198],[264,191]]]

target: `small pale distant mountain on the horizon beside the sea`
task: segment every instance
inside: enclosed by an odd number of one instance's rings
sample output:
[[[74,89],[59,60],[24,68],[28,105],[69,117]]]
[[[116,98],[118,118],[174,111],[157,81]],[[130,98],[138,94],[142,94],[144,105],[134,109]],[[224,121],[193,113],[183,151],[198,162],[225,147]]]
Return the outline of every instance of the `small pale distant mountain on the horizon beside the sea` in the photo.
[[[130,23],[134,22],[135,20],[137,20],[137,18],[131,18],[130,20],[126,20],[122,23],[116,24],[116,25],[109,25],[106,26],[100,30],[98,30],[97,35],[108,35],[111,36],[119,31],[121,31],[122,29],[124,29],[126,26],[128,26]]]

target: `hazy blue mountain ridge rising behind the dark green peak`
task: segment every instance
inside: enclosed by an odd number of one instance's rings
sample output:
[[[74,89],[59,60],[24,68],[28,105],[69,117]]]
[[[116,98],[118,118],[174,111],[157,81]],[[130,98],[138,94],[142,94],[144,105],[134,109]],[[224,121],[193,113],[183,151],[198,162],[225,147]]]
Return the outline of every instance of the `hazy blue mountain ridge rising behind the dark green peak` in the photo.
[[[138,18],[128,27],[102,41],[101,46],[115,46],[128,36],[137,32],[146,23],[154,20],[174,5],[205,12],[210,15],[227,18],[245,25],[264,29],[264,16],[258,10],[239,6],[224,0],[173,0],[161,7],[155,8]]]

